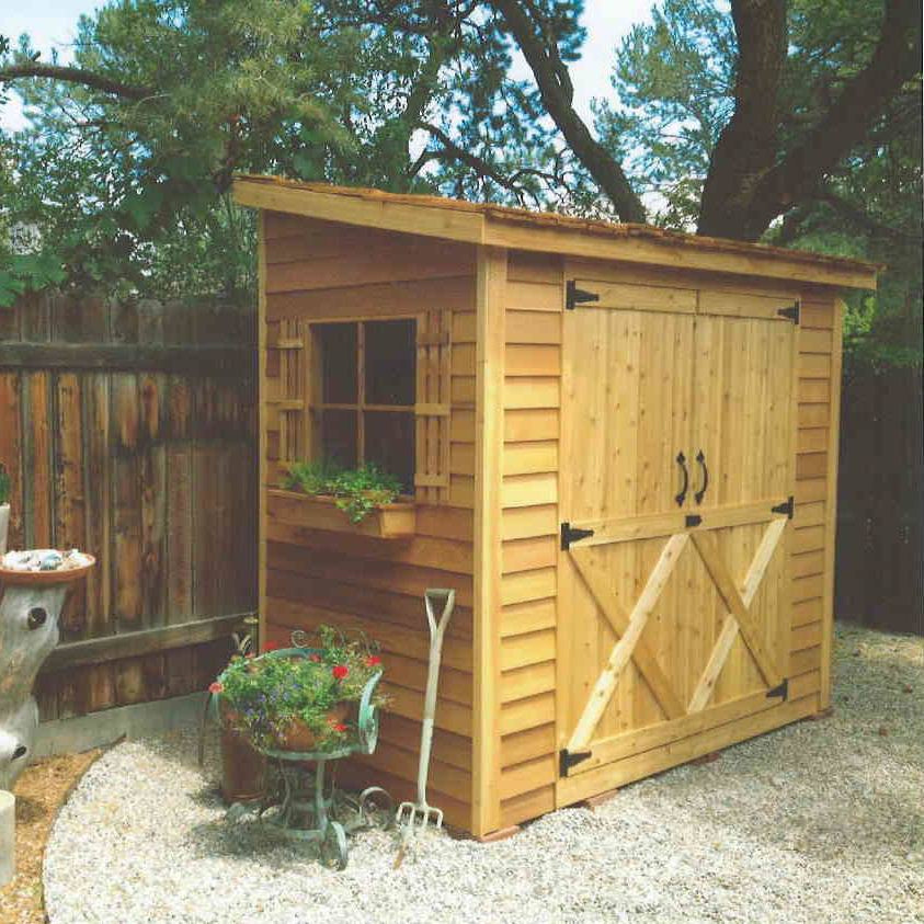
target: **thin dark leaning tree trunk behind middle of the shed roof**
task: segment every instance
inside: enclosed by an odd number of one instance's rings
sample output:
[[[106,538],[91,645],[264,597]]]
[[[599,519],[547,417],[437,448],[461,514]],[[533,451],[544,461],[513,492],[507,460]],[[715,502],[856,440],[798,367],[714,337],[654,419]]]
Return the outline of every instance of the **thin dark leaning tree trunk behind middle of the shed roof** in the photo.
[[[571,105],[571,80],[554,39],[543,41],[539,37],[536,23],[518,0],[493,0],[493,5],[520,45],[536,79],[546,110],[571,150],[608,196],[617,215],[624,221],[643,223],[644,207],[623,168],[591,135]],[[538,25],[541,27],[541,23]]]

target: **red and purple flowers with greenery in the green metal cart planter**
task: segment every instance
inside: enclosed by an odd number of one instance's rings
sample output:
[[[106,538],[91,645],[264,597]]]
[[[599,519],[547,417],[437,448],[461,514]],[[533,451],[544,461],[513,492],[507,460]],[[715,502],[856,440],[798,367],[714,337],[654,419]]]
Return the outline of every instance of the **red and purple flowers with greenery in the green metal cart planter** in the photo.
[[[376,646],[347,639],[330,626],[318,629],[318,648],[274,649],[260,658],[233,658],[210,691],[223,725],[258,748],[336,751],[358,739],[360,700],[381,658]],[[372,705],[385,705],[375,693]]]

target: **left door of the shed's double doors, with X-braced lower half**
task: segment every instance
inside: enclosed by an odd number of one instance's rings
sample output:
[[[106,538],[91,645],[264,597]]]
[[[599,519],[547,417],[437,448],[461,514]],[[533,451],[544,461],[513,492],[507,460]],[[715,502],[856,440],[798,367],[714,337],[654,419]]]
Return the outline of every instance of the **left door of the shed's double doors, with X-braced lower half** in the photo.
[[[566,760],[628,725],[683,712],[669,676],[681,632],[681,569],[664,559],[660,534],[625,541],[613,531],[682,516],[692,474],[696,292],[591,287],[598,301],[579,304],[563,321],[558,732]],[[652,605],[630,626],[646,582]],[[564,760],[561,773],[571,773]],[[559,802],[568,801],[559,784]]]

